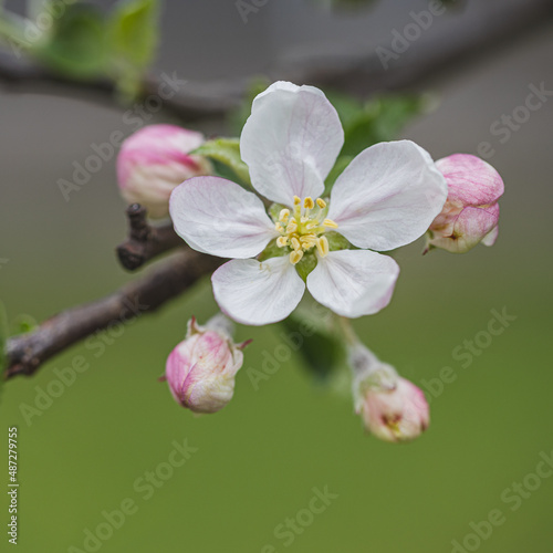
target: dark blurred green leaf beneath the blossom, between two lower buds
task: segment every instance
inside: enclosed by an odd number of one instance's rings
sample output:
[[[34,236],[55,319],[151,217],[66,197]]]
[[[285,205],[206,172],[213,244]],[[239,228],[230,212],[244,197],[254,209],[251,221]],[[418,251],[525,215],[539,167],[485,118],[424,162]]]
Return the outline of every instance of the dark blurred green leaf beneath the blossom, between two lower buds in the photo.
[[[330,377],[345,364],[345,346],[338,333],[332,332],[328,324],[331,313],[321,313],[323,310],[316,305],[317,313],[307,312],[305,309],[296,310],[282,322],[290,342],[301,344],[298,353],[301,355],[305,367],[320,382],[328,382]],[[295,338],[295,340],[294,340]]]

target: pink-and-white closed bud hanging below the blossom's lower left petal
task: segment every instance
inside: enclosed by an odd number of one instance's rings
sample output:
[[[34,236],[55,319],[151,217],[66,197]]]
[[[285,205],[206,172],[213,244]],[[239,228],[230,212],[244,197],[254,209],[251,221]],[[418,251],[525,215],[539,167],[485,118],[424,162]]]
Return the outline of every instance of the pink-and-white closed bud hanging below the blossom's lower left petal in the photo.
[[[243,363],[236,345],[220,325],[188,323],[186,340],[169,354],[166,378],[175,399],[194,413],[216,413],[234,393],[234,376]]]

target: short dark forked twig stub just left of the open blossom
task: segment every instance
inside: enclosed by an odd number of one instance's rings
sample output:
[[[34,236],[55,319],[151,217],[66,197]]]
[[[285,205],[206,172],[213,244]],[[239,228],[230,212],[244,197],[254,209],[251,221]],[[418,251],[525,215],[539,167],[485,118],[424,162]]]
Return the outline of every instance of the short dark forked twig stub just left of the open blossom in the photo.
[[[185,246],[173,225],[152,227],[146,219],[146,209],[139,204],[128,206],[127,217],[129,233],[127,240],[117,247],[117,257],[128,271],[135,271],[157,255]]]

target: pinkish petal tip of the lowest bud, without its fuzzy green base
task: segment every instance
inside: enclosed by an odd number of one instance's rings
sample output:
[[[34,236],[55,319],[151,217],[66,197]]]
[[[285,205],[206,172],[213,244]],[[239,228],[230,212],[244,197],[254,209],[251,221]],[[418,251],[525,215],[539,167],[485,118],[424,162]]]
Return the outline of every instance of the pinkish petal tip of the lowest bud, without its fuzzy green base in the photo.
[[[393,389],[366,386],[357,404],[365,428],[386,441],[417,438],[430,424],[428,403],[413,383],[399,377]]]

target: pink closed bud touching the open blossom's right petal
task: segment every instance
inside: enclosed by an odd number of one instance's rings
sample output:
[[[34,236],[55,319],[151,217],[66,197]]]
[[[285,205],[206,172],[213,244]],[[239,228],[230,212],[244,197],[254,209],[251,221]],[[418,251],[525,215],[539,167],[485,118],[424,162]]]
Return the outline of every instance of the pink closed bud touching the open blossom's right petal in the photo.
[[[446,177],[448,198],[428,229],[427,251],[442,248],[465,253],[498,237],[499,205],[503,180],[488,163],[468,154],[453,154],[436,161]]]

